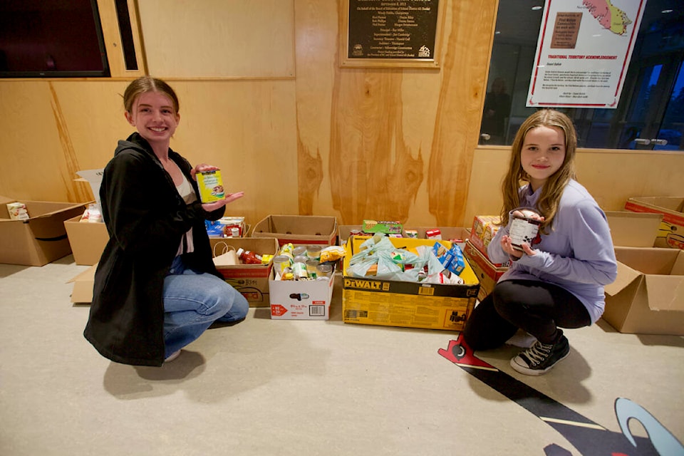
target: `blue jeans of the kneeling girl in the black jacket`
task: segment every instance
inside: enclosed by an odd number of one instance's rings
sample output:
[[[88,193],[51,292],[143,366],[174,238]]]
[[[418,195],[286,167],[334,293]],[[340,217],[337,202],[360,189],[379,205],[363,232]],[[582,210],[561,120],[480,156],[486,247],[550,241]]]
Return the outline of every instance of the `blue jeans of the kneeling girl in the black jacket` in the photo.
[[[249,303],[217,276],[188,269],[176,257],[164,279],[165,357],[195,341],[214,321],[239,321]]]

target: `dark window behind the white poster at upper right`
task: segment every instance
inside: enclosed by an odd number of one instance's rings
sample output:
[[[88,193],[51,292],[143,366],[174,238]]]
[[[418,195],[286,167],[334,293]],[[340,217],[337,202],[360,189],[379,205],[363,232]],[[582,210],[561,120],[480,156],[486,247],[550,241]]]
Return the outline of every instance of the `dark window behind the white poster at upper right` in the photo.
[[[526,107],[526,98],[543,6],[499,0],[480,144],[510,145],[536,109]],[[615,109],[558,108],[574,120],[580,147],[684,150],[683,10],[680,0],[646,2]]]

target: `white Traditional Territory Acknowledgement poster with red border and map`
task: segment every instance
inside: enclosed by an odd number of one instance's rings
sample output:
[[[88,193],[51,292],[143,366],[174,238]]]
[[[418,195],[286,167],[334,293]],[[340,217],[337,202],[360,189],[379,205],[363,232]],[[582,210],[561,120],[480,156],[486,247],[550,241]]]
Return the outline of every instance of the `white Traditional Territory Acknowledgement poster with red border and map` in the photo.
[[[534,108],[616,108],[646,0],[546,0],[527,93]]]

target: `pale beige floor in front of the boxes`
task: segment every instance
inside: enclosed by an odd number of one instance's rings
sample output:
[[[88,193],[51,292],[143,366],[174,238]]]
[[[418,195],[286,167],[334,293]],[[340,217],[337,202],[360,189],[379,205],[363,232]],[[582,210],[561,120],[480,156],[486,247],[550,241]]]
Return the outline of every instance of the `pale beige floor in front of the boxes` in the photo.
[[[464,368],[438,353],[457,333],[343,323],[337,276],[329,321],[251,309],[141,368],[83,338],[67,282],[85,269],[0,264],[0,455],[671,455],[684,441],[683,337],[599,321],[566,331],[570,356],[541,377],[512,371],[512,346],[477,353],[493,371]],[[641,417],[636,448],[617,398]]]

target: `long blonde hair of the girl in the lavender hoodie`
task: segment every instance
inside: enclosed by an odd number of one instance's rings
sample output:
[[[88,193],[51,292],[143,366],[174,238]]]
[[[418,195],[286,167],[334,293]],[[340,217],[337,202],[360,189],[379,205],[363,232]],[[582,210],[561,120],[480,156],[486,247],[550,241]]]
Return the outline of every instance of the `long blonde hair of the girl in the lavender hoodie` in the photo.
[[[522,169],[520,153],[525,136],[529,130],[537,127],[556,127],[560,128],[565,136],[565,159],[558,171],[554,172],[541,189],[541,195],[537,201],[537,210],[544,216],[544,223],[541,224],[541,232],[546,234],[552,226],[558,205],[568,182],[576,179],[575,175],[575,152],[577,150],[577,133],[572,120],[556,110],[542,109],[530,115],[520,125],[518,133],[515,135],[511,146],[511,161],[508,173],[501,185],[504,204],[501,209],[501,224],[507,225],[509,222],[509,212],[520,207],[520,185],[521,182],[529,182],[529,175]]]

